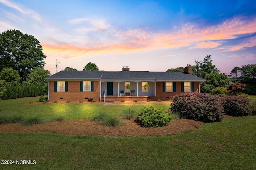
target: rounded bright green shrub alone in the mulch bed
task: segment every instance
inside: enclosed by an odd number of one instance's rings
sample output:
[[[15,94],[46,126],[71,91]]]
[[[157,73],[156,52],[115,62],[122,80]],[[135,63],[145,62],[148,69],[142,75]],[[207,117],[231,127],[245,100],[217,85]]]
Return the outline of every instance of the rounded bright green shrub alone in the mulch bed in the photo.
[[[138,121],[143,127],[159,127],[169,125],[171,117],[164,109],[156,109],[153,106],[144,106],[138,112]]]

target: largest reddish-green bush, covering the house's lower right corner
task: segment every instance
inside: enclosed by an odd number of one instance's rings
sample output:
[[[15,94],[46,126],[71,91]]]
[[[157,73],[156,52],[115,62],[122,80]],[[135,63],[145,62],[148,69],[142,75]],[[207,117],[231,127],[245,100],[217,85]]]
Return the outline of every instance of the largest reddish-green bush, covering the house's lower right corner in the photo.
[[[219,122],[223,119],[220,98],[210,94],[182,93],[172,97],[171,112],[178,112],[186,119]]]

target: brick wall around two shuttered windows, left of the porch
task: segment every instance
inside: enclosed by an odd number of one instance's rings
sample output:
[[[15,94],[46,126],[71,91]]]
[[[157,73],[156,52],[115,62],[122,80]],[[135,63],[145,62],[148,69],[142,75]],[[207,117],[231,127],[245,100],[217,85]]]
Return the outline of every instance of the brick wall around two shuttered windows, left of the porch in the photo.
[[[88,101],[85,98],[100,100],[100,81],[94,81],[93,92],[80,92],[80,81],[69,81],[68,92],[54,92],[54,82],[49,82],[49,101]],[[62,99],[60,99],[62,98]]]

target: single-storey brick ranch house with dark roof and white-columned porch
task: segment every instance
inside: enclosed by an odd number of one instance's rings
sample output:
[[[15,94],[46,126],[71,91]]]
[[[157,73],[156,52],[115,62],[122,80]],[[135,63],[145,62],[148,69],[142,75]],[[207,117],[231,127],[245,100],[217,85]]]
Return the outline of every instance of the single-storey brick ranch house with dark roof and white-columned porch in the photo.
[[[185,72],[60,71],[46,78],[49,101],[170,100],[183,92],[199,92],[205,80]]]

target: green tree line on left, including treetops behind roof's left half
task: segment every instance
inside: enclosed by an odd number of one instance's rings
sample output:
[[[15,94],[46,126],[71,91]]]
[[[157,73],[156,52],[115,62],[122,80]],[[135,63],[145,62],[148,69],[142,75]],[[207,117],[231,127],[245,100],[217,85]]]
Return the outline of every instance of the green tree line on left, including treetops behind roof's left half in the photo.
[[[19,30],[0,33],[0,100],[45,95],[51,74],[43,67],[46,58],[40,42]],[[76,70],[66,67],[65,70]],[[99,70],[88,63],[83,70]]]

